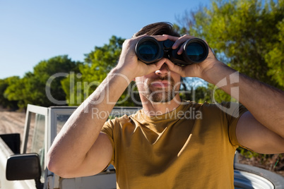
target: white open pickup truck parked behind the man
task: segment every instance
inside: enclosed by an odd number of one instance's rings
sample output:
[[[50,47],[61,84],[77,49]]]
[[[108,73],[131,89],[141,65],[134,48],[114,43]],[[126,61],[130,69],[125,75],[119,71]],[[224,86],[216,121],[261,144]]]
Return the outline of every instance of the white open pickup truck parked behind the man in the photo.
[[[0,135],[0,188],[116,188],[115,169],[112,165],[95,176],[80,178],[61,178],[47,169],[47,151],[75,109],[72,106],[47,108],[28,104],[21,146],[19,133]],[[114,107],[110,116],[134,114],[138,109],[140,108]],[[239,164],[237,158],[234,166],[235,188],[284,188],[284,178],[276,173]]]

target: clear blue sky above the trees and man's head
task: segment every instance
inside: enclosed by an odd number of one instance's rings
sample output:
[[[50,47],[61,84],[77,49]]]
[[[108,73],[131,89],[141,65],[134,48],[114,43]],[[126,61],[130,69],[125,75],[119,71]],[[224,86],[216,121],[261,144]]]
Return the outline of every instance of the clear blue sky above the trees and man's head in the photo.
[[[112,35],[129,38],[144,25],[177,23],[185,11],[210,0],[1,0],[0,79],[21,78],[42,60],[68,54],[83,61]]]

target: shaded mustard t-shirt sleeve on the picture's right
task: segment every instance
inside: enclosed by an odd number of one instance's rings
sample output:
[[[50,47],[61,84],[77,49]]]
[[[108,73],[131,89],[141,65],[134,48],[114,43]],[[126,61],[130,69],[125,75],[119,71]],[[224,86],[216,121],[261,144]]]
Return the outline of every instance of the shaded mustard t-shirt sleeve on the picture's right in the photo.
[[[228,127],[227,131],[231,144],[235,147],[242,147],[237,141],[236,128],[239,118],[247,109],[242,104],[235,102],[223,102],[220,105],[223,106],[223,109],[221,109],[225,112]]]

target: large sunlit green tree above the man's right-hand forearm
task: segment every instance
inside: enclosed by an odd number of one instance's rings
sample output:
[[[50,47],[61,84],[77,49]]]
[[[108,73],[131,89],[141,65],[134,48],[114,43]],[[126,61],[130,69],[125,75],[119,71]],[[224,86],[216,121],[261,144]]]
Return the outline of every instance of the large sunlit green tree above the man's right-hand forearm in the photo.
[[[283,90],[283,19],[283,0],[218,0],[185,13],[175,27],[206,39],[218,59],[237,71]]]

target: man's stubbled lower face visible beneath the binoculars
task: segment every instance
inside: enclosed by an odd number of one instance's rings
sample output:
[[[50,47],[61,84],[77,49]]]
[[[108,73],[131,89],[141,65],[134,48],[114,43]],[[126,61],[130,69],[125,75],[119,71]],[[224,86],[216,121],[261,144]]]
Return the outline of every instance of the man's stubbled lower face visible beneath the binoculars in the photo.
[[[170,102],[178,94],[180,75],[169,71],[164,64],[155,73],[136,78],[141,98],[146,97],[150,102]]]

